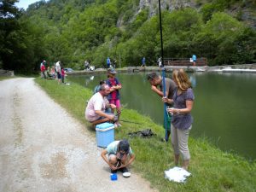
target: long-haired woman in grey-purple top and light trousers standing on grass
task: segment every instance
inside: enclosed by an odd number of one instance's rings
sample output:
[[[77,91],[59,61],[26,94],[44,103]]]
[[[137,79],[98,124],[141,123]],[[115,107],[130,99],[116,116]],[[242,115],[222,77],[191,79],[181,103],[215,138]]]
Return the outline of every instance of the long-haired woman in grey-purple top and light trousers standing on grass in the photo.
[[[189,131],[192,128],[193,118],[191,110],[193,108],[195,96],[189,81],[189,76],[183,69],[174,70],[172,79],[177,84],[173,94],[173,108],[167,111],[172,113],[172,148],[174,150],[174,163],[178,164],[179,156],[183,158],[183,169],[189,167]]]

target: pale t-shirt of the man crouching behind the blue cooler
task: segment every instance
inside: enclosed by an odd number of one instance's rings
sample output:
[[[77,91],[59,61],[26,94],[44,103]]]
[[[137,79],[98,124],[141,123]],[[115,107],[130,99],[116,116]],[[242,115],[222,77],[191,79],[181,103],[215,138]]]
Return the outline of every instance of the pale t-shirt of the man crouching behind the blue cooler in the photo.
[[[90,98],[90,101],[87,104],[87,107],[85,109],[85,119],[90,122],[99,119],[101,116],[95,113],[95,111],[99,110],[104,112],[105,108],[106,104],[104,98],[99,92],[97,92]]]

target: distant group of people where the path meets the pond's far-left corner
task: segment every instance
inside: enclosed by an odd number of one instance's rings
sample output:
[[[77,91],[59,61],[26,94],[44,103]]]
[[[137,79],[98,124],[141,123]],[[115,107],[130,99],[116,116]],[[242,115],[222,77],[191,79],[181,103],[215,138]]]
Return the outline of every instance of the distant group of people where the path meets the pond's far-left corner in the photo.
[[[61,61],[57,61],[52,67],[47,67],[46,70],[46,61],[42,61],[40,64],[41,77],[44,79],[58,79],[59,84],[65,84],[65,70],[64,67],[61,67]]]

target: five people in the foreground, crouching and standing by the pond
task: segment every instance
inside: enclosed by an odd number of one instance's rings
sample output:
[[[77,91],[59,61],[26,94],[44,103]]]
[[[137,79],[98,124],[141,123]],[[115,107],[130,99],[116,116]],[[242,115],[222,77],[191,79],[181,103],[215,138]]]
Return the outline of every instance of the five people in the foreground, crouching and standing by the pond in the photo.
[[[90,98],[85,109],[85,118],[92,125],[103,122],[116,122],[119,125],[120,101],[119,90],[122,88],[119,80],[115,78],[116,72],[108,69],[108,79],[101,81]],[[174,70],[172,79],[165,78],[166,92],[164,93],[163,79],[158,73],[149,73],[148,82],[153,90],[166,103],[167,119],[167,142],[170,135],[174,151],[174,162],[178,165],[182,157],[182,167],[188,170],[189,167],[189,131],[192,128],[193,118],[191,110],[195,96],[192,90],[189,76],[183,69]],[[110,109],[108,111],[107,109]],[[114,115],[114,109],[117,114]],[[108,156],[107,156],[108,154]],[[108,163],[111,172],[128,172],[127,167],[133,160],[135,154],[132,152],[127,140],[114,141],[102,151],[102,158]]]

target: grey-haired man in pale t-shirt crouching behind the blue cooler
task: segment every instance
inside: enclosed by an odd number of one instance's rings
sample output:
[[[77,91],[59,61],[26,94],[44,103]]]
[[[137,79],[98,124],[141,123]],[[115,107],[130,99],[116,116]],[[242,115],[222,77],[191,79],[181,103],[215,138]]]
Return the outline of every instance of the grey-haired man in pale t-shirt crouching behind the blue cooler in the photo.
[[[110,88],[107,84],[102,84],[99,92],[94,94],[85,109],[85,119],[92,125],[101,124],[107,121],[113,121],[114,115],[112,113],[105,113],[106,108],[116,108],[114,104],[106,103],[105,96],[110,93]]]

